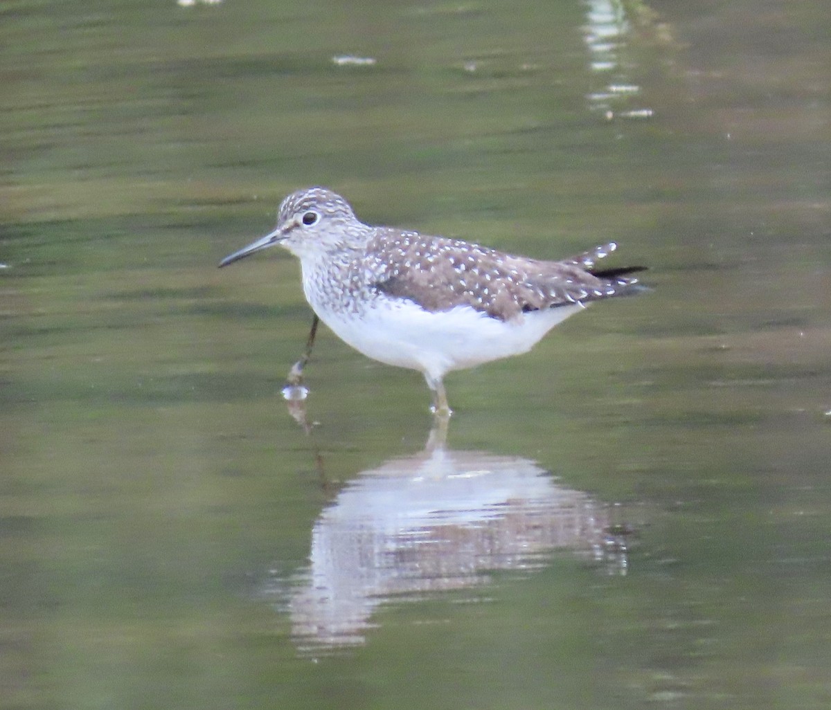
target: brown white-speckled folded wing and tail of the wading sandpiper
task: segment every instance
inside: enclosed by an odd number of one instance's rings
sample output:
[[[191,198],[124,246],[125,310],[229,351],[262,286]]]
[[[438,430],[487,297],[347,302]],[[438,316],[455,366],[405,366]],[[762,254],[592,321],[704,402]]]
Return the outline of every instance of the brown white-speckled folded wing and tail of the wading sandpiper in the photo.
[[[393,229],[379,231],[367,252],[384,262],[374,284],[389,296],[415,301],[427,311],[471,306],[507,321],[524,312],[569,306],[617,296],[636,279],[619,269],[593,273],[598,259],[612,252],[604,245],[563,262],[514,257],[445,237],[428,237]]]

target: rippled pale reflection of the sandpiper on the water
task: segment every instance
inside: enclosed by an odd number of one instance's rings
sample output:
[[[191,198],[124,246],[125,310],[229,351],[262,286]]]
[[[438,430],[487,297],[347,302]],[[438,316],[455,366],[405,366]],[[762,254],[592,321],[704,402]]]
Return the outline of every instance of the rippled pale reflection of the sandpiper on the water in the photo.
[[[525,458],[453,451],[438,420],[424,451],[391,458],[338,492],[312,529],[310,564],[269,590],[303,648],[361,644],[391,597],[482,585],[568,550],[625,573],[627,531],[609,507]]]

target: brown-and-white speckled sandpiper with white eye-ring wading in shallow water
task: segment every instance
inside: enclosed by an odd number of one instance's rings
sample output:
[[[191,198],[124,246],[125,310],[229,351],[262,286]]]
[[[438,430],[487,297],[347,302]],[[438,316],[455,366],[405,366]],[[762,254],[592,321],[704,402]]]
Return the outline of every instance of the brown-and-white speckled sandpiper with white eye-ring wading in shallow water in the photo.
[[[558,262],[356,218],[324,188],[280,205],[277,228],[225,257],[224,267],[275,244],[300,259],[303,293],[317,316],[356,350],[419,370],[435,414],[450,414],[442,382],[451,370],[530,350],[591,301],[638,291],[642,267],[597,270],[614,242]],[[298,364],[301,365],[302,364]]]

